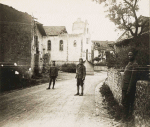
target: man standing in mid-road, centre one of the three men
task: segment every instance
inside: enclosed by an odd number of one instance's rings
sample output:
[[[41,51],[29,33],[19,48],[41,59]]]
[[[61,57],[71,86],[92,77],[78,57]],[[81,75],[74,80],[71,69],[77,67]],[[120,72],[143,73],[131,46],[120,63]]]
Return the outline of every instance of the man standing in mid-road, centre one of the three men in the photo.
[[[75,96],[79,95],[79,86],[81,86],[81,94],[80,96],[83,96],[83,87],[84,87],[84,80],[86,76],[86,68],[83,65],[83,59],[79,59],[79,64],[76,67],[76,77],[77,78],[77,94]]]

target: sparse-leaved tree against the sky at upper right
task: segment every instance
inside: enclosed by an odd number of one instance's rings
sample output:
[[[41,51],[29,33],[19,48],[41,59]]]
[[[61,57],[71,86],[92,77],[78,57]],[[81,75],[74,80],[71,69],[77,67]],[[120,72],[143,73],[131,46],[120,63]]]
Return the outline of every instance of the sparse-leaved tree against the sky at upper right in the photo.
[[[108,7],[106,11],[108,15],[106,17],[115,23],[117,28],[129,31],[131,35],[136,38],[143,33],[145,27],[149,26],[149,20],[144,20],[137,16],[139,0],[122,0],[122,2],[111,1],[112,4],[110,4],[108,0],[105,0],[105,7]]]

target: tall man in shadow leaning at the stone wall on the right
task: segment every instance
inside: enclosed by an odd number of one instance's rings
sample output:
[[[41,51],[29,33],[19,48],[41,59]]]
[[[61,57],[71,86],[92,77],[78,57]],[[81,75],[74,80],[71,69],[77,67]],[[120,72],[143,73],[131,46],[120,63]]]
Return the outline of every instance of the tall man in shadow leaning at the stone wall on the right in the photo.
[[[136,92],[136,82],[138,80],[138,64],[135,60],[137,52],[131,51],[128,53],[129,63],[125,67],[122,87],[122,105],[124,107],[124,119],[129,120],[132,116],[134,108],[134,99]]]

